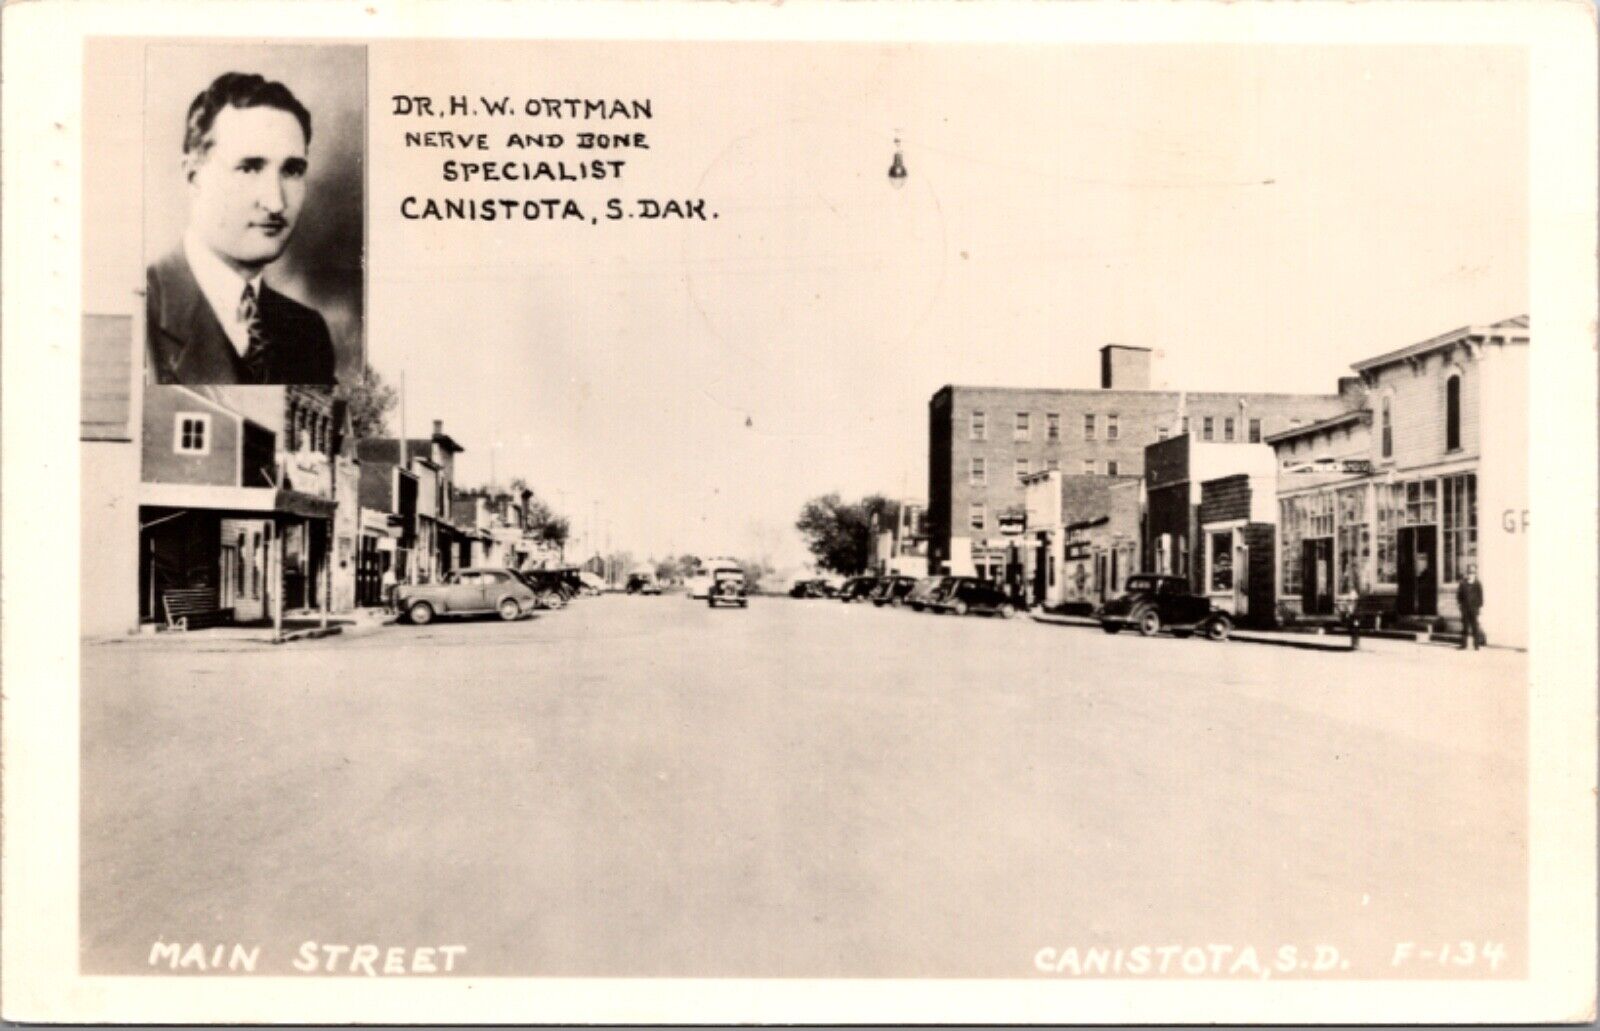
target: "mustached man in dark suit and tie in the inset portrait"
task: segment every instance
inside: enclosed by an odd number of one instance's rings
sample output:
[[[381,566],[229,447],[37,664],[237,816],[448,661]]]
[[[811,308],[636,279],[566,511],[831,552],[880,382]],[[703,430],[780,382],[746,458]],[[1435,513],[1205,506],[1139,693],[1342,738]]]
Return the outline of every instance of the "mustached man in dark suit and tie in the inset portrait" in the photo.
[[[294,234],[309,142],[310,112],[261,75],[219,75],[189,106],[189,226],[146,274],[157,383],[333,386],[328,323],[262,282]]]

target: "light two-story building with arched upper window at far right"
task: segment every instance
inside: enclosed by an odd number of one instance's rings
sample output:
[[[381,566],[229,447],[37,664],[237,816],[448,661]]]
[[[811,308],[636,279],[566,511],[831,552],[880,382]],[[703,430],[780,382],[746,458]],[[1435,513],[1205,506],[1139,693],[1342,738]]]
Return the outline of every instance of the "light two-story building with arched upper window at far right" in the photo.
[[[1352,367],[1365,397],[1270,434],[1280,605],[1453,624],[1467,567],[1491,640],[1528,640],[1528,317],[1461,327]]]

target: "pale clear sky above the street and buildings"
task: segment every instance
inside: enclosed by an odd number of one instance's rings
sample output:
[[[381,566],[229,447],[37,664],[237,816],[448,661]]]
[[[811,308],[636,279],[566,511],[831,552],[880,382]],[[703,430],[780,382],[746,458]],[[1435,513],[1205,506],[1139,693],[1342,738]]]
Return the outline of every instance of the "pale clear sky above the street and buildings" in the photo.
[[[1362,357],[1528,309],[1512,50],[378,43],[368,69],[368,360],[405,379],[406,432],[442,419],[459,482],[525,477],[640,557],[792,565],[806,498],[923,498],[949,383],[1093,387],[1123,343],[1155,349],[1157,386],[1331,392]],[[654,117],[389,99],[453,93]],[[629,163],[443,183],[469,155],[408,128]],[[650,149],[499,146],[581,130]],[[702,197],[717,218],[424,223],[408,195]]]

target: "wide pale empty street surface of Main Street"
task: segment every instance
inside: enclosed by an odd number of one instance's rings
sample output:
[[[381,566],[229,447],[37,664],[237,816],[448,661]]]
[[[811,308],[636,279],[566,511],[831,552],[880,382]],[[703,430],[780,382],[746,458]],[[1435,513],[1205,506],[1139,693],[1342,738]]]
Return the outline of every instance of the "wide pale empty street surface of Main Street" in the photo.
[[[88,644],[83,972],[198,941],[294,973],[315,941],[461,945],[474,975],[1042,977],[1046,948],[1224,943],[1515,977],[1525,684],[1512,652],[682,594]],[[1394,965],[1458,941],[1504,959]]]

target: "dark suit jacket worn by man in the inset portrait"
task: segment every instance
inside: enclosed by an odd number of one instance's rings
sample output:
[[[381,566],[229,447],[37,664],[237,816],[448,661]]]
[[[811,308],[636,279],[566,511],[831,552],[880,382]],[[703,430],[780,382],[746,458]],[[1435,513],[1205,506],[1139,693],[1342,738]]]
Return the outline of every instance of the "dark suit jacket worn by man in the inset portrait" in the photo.
[[[322,315],[266,283],[259,311],[269,351],[264,375],[254,378],[200,291],[182,248],[152,264],[144,312],[155,381],[333,386],[333,336]]]

